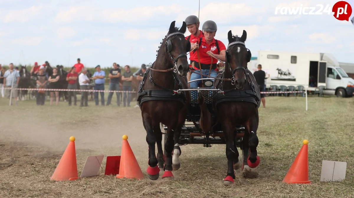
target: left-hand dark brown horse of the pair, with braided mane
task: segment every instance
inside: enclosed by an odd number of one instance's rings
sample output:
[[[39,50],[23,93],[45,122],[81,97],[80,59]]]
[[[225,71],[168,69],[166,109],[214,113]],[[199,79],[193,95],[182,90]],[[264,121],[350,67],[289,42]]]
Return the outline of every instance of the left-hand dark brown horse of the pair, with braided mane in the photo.
[[[184,38],[186,29],[185,22],[179,30],[175,27],[175,21],[171,23],[169,32],[161,42],[157,58],[144,73],[137,93],[143,125],[147,132],[146,142],[149,145],[147,173],[151,180],[159,178],[162,166],[165,170],[162,179],[171,180],[174,178],[172,169],[178,169],[180,166],[178,157],[181,150],[178,139],[187,116],[190,92],[176,90],[188,88],[187,52],[190,50],[190,42]],[[178,74],[176,74],[177,72]],[[160,123],[167,126],[166,162],[164,162],[162,150]],[[158,148],[157,158],[155,143]],[[172,162],[172,152],[174,163]],[[173,165],[175,165],[174,168]]]

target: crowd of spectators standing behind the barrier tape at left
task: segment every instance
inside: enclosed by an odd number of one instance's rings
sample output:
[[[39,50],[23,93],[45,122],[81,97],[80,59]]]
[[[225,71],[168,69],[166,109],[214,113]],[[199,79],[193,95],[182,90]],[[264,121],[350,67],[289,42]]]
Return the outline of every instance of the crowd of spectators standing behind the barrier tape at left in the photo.
[[[48,68],[51,68],[48,70]],[[135,74],[130,70],[130,66],[124,66],[124,73],[121,72],[121,68],[119,64],[113,63],[113,68],[110,69],[108,76],[105,71],[101,70],[101,66],[97,65],[95,67],[96,72],[93,75],[89,74],[87,68],[80,62],[80,59],[77,59],[77,63],[69,70],[69,73],[66,76],[67,81],[67,89],[68,89],[68,105],[71,106],[74,103],[74,106],[77,105],[77,97],[76,91],[70,90],[82,90],[81,91],[81,100],[80,107],[88,106],[88,97],[90,86],[93,87],[93,90],[97,90],[94,92],[94,98],[96,106],[99,105],[99,96],[101,97],[101,105],[108,106],[112,102],[114,92],[108,93],[107,103],[105,103],[104,98],[104,90],[105,90],[105,79],[109,79],[109,91],[119,91],[120,85],[122,85],[123,91],[132,91],[132,81],[133,78],[141,82],[143,75],[146,71],[146,65],[142,64],[140,70],[138,70]],[[49,63],[46,61],[43,65],[38,65],[35,62],[34,66],[30,70],[30,76],[33,80],[35,80],[36,88],[39,90],[36,91],[36,104],[44,105],[46,98],[46,90],[45,89],[63,89],[61,87],[60,82],[60,74],[58,73],[58,68],[50,67]],[[18,68],[14,68],[13,64],[9,64],[8,70],[1,67],[0,64],[0,95],[2,98],[6,96],[7,99],[10,99],[11,89],[12,89],[12,98],[17,105],[17,97],[18,97],[18,88],[20,81],[20,72]],[[117,97],[116,105],[120,106],[120,92],[115,92]],[[131,93],[123,92],[123,106],[130,107],[131,101]],[[54,96],[56,99],[56,105],[59,103],[59,91],[50,90],[50,106],[53,104]],[[72,98],[74,97],[74,101]],[[135,106],[137,107],[137,105]]]

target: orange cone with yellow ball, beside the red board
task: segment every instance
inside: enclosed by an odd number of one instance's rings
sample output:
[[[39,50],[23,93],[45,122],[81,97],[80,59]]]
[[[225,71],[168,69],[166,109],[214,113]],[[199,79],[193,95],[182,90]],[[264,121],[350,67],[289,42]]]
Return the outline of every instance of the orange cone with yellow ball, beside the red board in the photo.
[[[119,174],[116,178],[136,178],[141,180],[144,178],[143,172],[130,148],[128,136],[123,136],[122,152],[120,157]]]

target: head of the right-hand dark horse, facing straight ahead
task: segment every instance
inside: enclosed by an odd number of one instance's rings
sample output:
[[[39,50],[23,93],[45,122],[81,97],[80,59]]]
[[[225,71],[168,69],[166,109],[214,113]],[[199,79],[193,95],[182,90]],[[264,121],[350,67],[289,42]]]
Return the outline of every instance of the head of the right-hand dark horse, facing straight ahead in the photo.
[[[228,33],[229,44],[225,52],[225,64],[229,65],[237,89],[241,89],[246,83],[247,62],[251,61],[252,56],[251,51],[245,46],[246,38],[245,30],[241,37],[233,36],[231,30]]]

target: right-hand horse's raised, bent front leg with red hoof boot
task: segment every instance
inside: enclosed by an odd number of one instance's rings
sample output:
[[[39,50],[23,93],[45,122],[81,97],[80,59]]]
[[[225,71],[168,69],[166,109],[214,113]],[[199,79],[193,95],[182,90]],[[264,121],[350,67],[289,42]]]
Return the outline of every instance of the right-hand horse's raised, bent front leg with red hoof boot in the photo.
[[[250,118],[245,124],[245,136],[242,140],[242,153],[243,153],[243,163],[242,163],[242,175],[245,178],[256,178],[258,173],[255,169],[259,164],[259,157],[257,156],[257,128],[258,119],[255,117]]]

